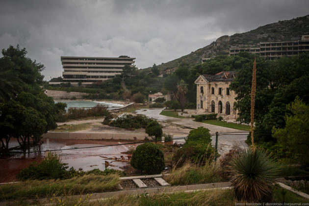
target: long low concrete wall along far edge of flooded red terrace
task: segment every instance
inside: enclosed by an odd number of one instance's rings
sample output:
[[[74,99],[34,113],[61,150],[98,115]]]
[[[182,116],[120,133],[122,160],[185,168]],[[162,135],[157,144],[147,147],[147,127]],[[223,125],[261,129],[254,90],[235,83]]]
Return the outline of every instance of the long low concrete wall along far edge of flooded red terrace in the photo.
[[[134,138],[135,137],[135,138]],[[105,140],[145,140],[146,133],[73,133],[73,132],[48,132],[43,138],[49,139],[105,139]]]

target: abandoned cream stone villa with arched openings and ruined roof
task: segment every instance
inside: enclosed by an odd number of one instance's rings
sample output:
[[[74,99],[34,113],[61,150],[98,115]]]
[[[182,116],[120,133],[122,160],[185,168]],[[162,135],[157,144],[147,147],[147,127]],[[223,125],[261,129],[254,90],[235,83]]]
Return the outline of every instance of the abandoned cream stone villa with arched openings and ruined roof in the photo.
[[[233,109],[236,94],[229,89],[235,72],[220,72],[215,75],[200,75],[196,80],[196,113],[218,113],[225,119],[237,118]]]

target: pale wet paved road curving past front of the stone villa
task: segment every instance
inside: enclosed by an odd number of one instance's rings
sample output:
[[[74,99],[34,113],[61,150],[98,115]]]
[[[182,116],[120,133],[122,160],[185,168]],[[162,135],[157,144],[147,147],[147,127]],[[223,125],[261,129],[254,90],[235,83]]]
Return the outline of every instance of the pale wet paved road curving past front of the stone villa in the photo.
[[[182,118],[175,118],[175,117],[167,117],[164,115],[160,115],[163,108],[154,108],[154,109],[139,109],[135,112],[137,114],[144,114],[148,117],[152,117],[157,121],[160,122],[171,122],[176,125],[180,125],[182,127],[188,127],[192,129],[196,129],[198,127],[205,127],[210,130],[210,133],[219,132],[218,138],[218,152],[220,154],[228,153],[233,147],[239,147],[241,149],[247,149],[248,145],[245,143],[247,139],[248,132],[239,129],[232,129],[232,128],[225,128],[216,125],[209,125],[201,122],[194,122],[193,119],[182,119]],[[233,134],[221,134],[220,133],[228,133],[228,132],[235,132]],[[175,136],[178,137],[178,136]],[[214,146],[215,144],[215,135],[211,137],[212,142],[211,144]]]

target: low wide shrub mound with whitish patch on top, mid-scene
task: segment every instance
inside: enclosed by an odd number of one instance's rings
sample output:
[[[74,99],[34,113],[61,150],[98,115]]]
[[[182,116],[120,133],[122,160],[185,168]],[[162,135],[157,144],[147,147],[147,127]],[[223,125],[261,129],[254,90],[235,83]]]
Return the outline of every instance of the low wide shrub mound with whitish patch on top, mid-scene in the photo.
[[[103,124],[109,124],[113,127],[118,128],[125,128],[125,129],[139,129],[139,128],[146,128],[148,123],[152,122],[153,120],[144,116],[144,115],[136,115],[133,116],[131,114],[121,114],[115,119],[110,119],[111,116],[107,116],[104,120]]]

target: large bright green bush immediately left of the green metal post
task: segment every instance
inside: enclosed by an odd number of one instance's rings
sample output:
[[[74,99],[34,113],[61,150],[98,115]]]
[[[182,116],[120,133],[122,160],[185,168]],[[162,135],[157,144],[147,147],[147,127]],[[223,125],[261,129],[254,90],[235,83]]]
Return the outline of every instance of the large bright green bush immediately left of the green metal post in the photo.
[[[209,129],[199,127],[190,131],[183,147],[174,154],[173,161],[177,167],[182,166],[186,161],[205,164],[213,154],[214,148],[211,146]]]

